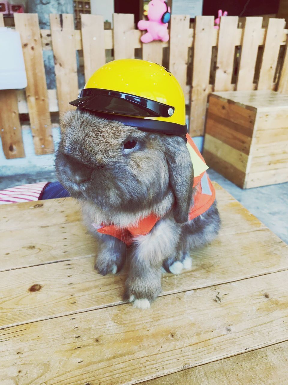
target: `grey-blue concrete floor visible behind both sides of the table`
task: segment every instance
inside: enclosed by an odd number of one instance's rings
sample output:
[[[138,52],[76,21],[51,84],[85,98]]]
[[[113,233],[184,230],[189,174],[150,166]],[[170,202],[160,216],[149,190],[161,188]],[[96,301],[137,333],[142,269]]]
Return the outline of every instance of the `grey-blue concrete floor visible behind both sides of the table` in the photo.
[[[273,233],[288,243],[288,183],[242,190],[214,170],[209,169],[208,173],[212,181],[224,187]],[[0,177],[0,190],[42,181],[56,181],[55,172],[49,170],[33,176],[20,174]]]

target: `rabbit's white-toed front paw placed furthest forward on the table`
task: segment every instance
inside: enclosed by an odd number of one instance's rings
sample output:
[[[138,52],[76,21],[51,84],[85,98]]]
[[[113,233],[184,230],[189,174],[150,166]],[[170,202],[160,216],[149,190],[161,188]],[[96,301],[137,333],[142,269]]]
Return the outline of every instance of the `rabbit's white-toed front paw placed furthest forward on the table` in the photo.
[[[150,303],[161,293],[160,278],[134,278],[126,280],[126,292],[124,298],[132,302],[139,309],[149,309]]]

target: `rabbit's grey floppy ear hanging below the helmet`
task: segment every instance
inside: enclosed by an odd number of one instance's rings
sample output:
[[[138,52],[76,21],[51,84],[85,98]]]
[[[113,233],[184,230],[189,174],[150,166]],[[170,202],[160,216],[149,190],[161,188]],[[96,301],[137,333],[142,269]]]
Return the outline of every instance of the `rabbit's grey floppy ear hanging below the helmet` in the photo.
[[[185,223],[188,221],[192,200],[193,165],[184,138],[166,136],[164,143],[169,182],[175,198],[174,219],[177,223]]]

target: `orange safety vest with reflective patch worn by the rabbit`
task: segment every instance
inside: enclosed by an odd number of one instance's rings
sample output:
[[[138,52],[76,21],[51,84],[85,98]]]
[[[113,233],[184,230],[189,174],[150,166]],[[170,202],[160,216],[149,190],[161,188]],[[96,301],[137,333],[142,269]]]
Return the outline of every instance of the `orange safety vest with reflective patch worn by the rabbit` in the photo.
[[[192,147],[197,156],[199,156],[201,161],[205,164],[205,161],[192,138],[188,134],[186,137],[188,145]],[[205,211],[207,211],[215,201],[215,189],[206,171],[194,176],[193,187],[196,188],[196,192],[194,194],[193,206],[190,208],[189,220],[205,213]],[[141,219],[136,226],[129,226],[127,228],[120,228],[114,224],[101,224],[101,226],[97,226],[93,223],[92,225],[97,229],[98,233],[112,235],[129,246],[138,235],[146,235],[150,233],[159,219],[161,218],[155,214],[150,214],[146,218]]]

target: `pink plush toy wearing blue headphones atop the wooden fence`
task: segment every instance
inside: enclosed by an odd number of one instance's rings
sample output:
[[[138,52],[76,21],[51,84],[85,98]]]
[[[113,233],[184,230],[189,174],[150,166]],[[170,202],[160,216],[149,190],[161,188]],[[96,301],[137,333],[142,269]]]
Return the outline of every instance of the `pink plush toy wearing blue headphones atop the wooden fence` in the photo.
[[[144,6],[144,15],[148,20],[140,20],[137,24],[139,30],[147,30],[141,36],[142,43],[150,43],[153,40],[169,40],[168,23],[170,21],[170,7],[164,0],[151,0]]]

